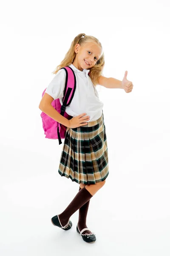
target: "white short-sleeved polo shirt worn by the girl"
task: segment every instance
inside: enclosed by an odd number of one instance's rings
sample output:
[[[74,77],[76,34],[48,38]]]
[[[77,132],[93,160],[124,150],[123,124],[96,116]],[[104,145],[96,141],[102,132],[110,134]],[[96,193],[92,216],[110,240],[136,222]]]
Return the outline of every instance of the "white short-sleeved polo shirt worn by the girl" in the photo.
[[[76,90],[71,104],[65,108],[65,112],[74,117],[86,113],[85,116],[90,116],[90,119],[86,122],[99,119],[102,115],[103,102],[99,100],[99,94],[88,76],[90,70],[84,69],[80,71],[73,64],[68,65],[68,67],[74,70]],[[65,79],[65,70],[59,70],[45,90],[45,93],[48,93],[53,99],[59,99],[61,105],[64,96]]]

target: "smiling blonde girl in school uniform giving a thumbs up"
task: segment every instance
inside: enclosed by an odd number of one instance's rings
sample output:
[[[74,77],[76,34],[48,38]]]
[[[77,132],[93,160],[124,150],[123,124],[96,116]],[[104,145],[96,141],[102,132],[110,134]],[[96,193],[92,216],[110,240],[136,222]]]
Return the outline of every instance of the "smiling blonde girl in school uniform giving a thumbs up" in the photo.
[[[56,76],[39,105],[44,113],[67,127],[58,172],[79,184],[77,195],[62,213],[51,218],[51,222],[62,230],[69,230],[72,227],[70,217],[79,209],[77,232],[88,243],[96,241],[94,232],[86,225],[90,199],[102,188],[109,174],[103,103],[99,100],[96,84],[123,88],[126,92],[133,88],[132,82],[127,82],[127,71],[123,81],[102,76],[104,64],[99,40],[85,34],[77,35],[65,58],[57,66],[54,72]],[[61,68],[65,66],[74,71],[77,81],[74,97],[65,109],[73,116],[70,120],[51,106],[51,102],[58,98],[62,104],[66,73]]]

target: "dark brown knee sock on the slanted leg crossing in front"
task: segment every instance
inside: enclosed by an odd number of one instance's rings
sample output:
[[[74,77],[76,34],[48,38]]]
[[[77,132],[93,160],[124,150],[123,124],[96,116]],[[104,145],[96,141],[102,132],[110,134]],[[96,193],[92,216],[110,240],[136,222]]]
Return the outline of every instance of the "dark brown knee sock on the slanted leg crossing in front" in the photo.
[[[74,212],[76,212],[80,207],[82,207],[86,202],[88,202],[92,198],[92,196],[93,195],[91,195],[91,193],[88,192],[88,190],[85,187],[79,190],[79,192],[68,205],[68,207],[58,215],[62,226],[65,226],[68,223],[71,215],[73,215]]]

